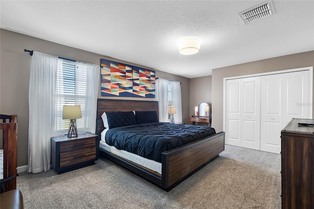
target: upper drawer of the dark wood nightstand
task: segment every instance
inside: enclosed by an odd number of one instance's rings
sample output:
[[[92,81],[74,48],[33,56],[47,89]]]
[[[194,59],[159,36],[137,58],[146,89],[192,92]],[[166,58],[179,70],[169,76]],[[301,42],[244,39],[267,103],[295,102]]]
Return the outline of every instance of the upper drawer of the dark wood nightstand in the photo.
[[[95,137],[61,142],[60,153],[96,146]]]

